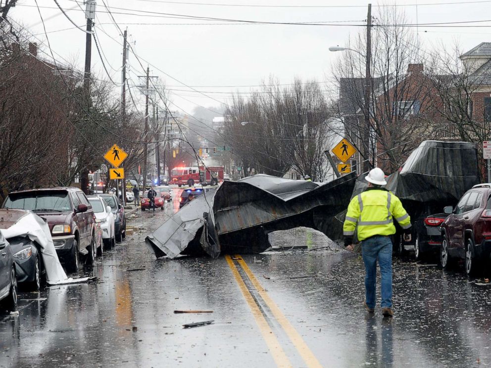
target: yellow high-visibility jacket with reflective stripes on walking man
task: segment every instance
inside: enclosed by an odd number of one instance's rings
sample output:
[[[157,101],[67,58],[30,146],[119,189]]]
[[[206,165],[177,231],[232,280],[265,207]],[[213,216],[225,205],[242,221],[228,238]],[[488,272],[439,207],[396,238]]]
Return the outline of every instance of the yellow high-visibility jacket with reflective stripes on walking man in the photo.
[[[386,189],[370,187],[353,197],[343,224],[344,236],[351,238],[357,229],[358,240],[374,235],[395,234],[393,218],[402,229],[411,227],[411,218],[400,199]]]

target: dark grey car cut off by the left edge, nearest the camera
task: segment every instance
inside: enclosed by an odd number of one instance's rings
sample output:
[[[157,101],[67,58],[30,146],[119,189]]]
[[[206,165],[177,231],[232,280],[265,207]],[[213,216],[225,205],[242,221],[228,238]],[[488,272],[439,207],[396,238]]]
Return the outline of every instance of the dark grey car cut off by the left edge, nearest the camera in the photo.
[[[0,309],[9,312],[17,307],[17,275],[10,244],[0,232]]]

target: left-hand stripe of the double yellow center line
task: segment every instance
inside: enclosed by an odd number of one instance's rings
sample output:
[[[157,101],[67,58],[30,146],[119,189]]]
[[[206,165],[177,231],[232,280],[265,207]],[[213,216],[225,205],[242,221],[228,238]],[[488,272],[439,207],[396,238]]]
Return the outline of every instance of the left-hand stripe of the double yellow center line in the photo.
[[[254,298],[250,294],[249,290],[247,290],[247,286],[245,285],[244,280],[239,274],[239,271],[237,270],[234,261],[232,261],[232,258],[230,258],[229,255],[226,255],[225,259],[227,260],[227,263],[230,269],[232,270],[232,274],[234,275],[235,280],[239,284],[242,294],[244,295],[245,301],[247,302],[250,310],[252,311],[252,316],[254,316],[254,319],[256,320],[256,323],[259,326],[259,330],[261,331],[264,341],[266,341],[266,344],[268,345],[268,348],[271,352],[271,355],[273,356],[276,365],[278,367],[293,367],[292,363],[290,363],[290,360],[285,354],[285,351],[283,350],[280,343],[278,342],[278,339],[276,338],[275,334],[269,327],[268,322],[266,321],[263,314],[261,313],[261,310],[259,309],[256,302],[254,301]]]

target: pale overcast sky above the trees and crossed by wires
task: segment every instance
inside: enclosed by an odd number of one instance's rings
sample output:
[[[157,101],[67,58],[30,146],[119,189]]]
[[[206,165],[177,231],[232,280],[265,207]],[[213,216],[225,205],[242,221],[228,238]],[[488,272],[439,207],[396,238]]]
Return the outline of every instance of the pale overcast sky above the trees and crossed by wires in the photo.
[[[250,92],[254,87],[238,86],[259,85],[270,75],[283,84],[292,83],[295,77],[332,83],[331,63],[340,56],[340,52],[330,52],[328,47],[343,46],[350,35],[359,32],[361,27],[358,25],[363,25],[366,20],[369,1],[97,0],[96,37],[109,74],[114,82],[120,84],[122,35],[104,2],[119,27],[122,30],[128,28],[129,39],[144,67],[150,64],[150,74],[158,76],[159,81],[171,90],[173,104],[170,108],[191,113],[197,105],[209,107],[219,106],[218,101],[226,103],[228,94],[218,92]],[[77,25],[85,28],[85,14],[81,10],[81,7],[85,8],[83,1],[58,0],[58,3]],[[491,1],[407,0],[395,3],[405,11],[411,23],[468,22],[491,18]],[[54,0],[38,0],[38,4],[56,58],[73,62],[83,70],[85,33],[70,23]],[[388,2],[373,2],[374,16],[379,11],[379,4]],[[37,35],[40,48],[48,52],[47,37],[35,1],[19,0],[18,6],[8,16]],[[330,22],[333,25],[238,24],[189,19],[189,16],[260,22]],[[491,26],[491,22],[462,25],[465,27],[421,25],[417,29],[419,40],[426,47],[440,43],[451,46],[458,41],[465,50],[491,41],[489,27],[483,27]],[[46,54],[40,55],[49,58]],[[96,75],[105,77],[94,43],[92,66]],[[142,83],[137,76],[143,75],[144,71],[133,53],[129,56],[129,69],[130,85]],[[196,90],[207,96],[185,85],[196,86]],[[115,87],[115,93],[117,91]],[[139,93],[136,89],[132,91],[135,95]],[[138,104],[141,102],[142,99],[137,101]]]

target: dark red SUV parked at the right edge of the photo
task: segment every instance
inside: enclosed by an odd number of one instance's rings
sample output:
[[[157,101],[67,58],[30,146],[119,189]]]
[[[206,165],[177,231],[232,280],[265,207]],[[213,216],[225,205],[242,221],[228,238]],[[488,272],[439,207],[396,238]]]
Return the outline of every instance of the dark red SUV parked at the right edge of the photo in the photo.
[[[442,224],[440,261],[444,269],[465,260],[465,272],[473,274],[491,253],[491,184],[474,185],[460,198]]]

